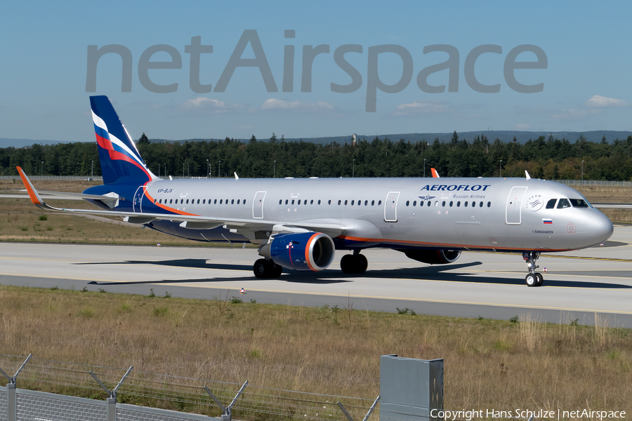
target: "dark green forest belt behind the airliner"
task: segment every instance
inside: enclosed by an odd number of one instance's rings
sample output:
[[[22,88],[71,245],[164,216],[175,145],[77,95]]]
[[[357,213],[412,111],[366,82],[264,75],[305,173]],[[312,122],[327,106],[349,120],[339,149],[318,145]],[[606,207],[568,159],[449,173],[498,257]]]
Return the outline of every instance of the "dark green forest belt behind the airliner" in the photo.
[[[151,171],[185,177],[524,177],[547,180],[632,180],[632,135],[599,142],[540,136],[520,145],[485,135],[433,142],[388,138],[358,140],[356,145],[317,145],[270,139],[151,142],[145,134],[136,145]],[[0,175],[100,175],[96,142],[32,145],[0,149]],[[501,173],[502,171],[502,173]],[[582,174],[583,172],[583,174]]]

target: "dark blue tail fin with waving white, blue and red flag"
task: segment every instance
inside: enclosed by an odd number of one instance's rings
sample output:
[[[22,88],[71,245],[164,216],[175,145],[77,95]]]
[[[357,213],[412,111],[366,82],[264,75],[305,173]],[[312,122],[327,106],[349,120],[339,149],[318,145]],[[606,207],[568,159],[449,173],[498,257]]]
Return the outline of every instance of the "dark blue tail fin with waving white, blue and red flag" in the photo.
[[[157,177],[145,165],[138,149],[125,130],[106,96],[91,96],[90,107],[99,149],[103,184],[144,185]]]

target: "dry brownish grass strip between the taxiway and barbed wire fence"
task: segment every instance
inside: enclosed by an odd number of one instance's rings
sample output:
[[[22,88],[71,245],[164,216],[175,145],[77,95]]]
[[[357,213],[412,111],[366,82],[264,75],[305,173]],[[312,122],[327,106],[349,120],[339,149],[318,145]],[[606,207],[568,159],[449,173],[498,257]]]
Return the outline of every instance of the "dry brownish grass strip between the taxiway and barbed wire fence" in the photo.
[[[632,412],[632,331],[603,316],[588,327],[225,298],[2,286],[0,354],[367,399],[379,394],[379,356],[399,354],[445,359],[445,408]]]

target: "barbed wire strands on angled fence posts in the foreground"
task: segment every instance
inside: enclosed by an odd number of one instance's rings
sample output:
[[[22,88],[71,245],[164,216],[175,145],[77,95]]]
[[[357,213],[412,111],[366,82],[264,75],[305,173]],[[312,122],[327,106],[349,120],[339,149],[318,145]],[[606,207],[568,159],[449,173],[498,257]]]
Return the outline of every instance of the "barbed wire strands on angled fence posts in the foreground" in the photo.
[[[17,370],[25,361],[25,356],[0,354],[0,368]],[[90,375],[94,373],[106,387],[114,388],[126,373],[124,368],[89,366],[67,361],[31,358],[18,376],[18,382],[32,385],[49,385],[68,389],[80,389],[107,396],[105,390]],[[10,375],[11,375],[10,374]],[[3,377],[4,378],[4,377]],[[163,375],[143,371],[132,371],[123,382],[117,394],[154,401],[154,404],[171,403],[172,406],[189,405],[190,410],[202,413],[218,412],[216,403],[203,387],[209,387],[213,395],[225,406],[232,401],[242,387],[242,383],[218,380],[195,379],[176,375]],[[372,399],[352,396],[334,396],[288,389],[275,389],[258,385],[248,385],[232,407],[233,413],[269,415],[270,417],[301,417],[305,420],[341,420],[347,418],[338,408],[341,401],[345,410],[354,418],[362,419],[373,403]],[[378,416],[378,415],[376,415]]]

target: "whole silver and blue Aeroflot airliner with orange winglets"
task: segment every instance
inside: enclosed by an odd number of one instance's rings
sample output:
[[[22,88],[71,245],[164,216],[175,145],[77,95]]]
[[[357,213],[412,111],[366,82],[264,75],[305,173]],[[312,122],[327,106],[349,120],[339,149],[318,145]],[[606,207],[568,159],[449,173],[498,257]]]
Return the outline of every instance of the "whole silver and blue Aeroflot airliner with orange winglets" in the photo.
[[[31,201],[66,213],[119,215],[198,241],[258,244],[258,278],[283,268],[367,269],[365,248],[393,248],[419,262],[452,263],[462,250],[522,253],[527,286],[541,286],[543,251],[587,248],[612,235],[608,218],[579,192],[529,178],[334,178],[164,180],[145,165],[105,96],[90,98],[104,185],[75,199],[101,210],[54,208],[18,167]],[[48,195],[48,196],[47,196]],[[68,199],[68,194],[60,195]]]

